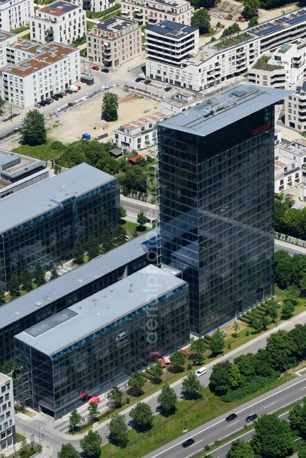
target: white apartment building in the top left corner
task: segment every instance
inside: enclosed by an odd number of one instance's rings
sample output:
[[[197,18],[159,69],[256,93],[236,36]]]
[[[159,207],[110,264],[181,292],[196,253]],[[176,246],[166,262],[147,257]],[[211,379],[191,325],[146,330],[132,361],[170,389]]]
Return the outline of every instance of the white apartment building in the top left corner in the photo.
[[[0,2],[0,29],[15,30],[29,23],[34,14],[33,0],[6,0]]]

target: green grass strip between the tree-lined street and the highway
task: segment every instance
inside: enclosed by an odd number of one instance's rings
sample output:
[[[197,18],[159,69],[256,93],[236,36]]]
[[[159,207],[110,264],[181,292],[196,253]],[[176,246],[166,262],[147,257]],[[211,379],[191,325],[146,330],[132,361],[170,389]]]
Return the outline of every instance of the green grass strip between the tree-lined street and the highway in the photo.
[[[201,391],[201,399],[197,401],[180,401],[176,405],[177,411],[175,414],[168,418],[163,417],[161,414],[156,415],[152,429],[146,433],[137,433],[135,430],[128,431],[129,442],[125,449],[106,444],[101,447],[100,457],[111,458],[116,456],[117,458],[126,458],[128,456],[129,458],[138,458],[144,456],[184,434],[185,421],[187,421],[188,430],[194,430],[219,415],[226,415],[229,410],[234,411],[239,405],[288,382],[294,377],[295,374],[285,373],[278,380],[268,384],[256,393],[249,394],[230,404],[224,403],[221,398],[211,393],[208,387],[205,387]]]

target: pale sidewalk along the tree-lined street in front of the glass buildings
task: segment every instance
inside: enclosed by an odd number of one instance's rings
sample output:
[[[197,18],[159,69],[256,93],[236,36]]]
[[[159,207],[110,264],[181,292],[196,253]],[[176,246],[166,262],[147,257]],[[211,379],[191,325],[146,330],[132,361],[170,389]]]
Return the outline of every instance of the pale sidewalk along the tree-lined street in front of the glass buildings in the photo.
[[[286,322],[283,322],[281,325],[279,325],[278,327],[274,327],[273,329],[270,329],[269,331],[267,331],[266,333],[263,333],[261,334],[260,336],[258,336],[258,338],[254,338],[252,340],[250,340],[249,342],[237,347],[236,349],[232,350],[231,352],[225,354],[224,356],[220,356],[220,358],[218,358],[217,360],[214,360],[212,361],[211,363],[208,363],[206,364],[206,367],[207,368],[210,368],[211,366],[215,365],[216,363],[218,362],[221,362],[221,361],[224,361],[224,360],[227,360],[229,359],[230,357],[234,356],[236,353],[239,353],[241,352],[241,350],[244,350],[244,349],[247,349],[248,347],[250,347],[254,341],[256,340],[257,342],[259,342],[260,340],[263,340],[267,337],[269,337],[271,334],[273,333],[276,333],[277,331],[279,331],[279,329],[283,329],[284,327],[288,327],[290,326],[291,324],[295,324],[295,322],[298,322],[300,321],[301,318],[305,317],[306,316],[306,311],[300,313],[300,315],[297,315],[293,318],[291,318],[290,320],[287,320]],[[184,378],[184,377],[183,377]],[[179,379],[178,381],[176,382],[173,382],[170,387],[177,387],[178,385],[180,385],[182,383],[182,380],[183,378]],[[159,393],[161,392],[161,390],[157,391],[156,393],[153,393],[151,394],[150,396],[148,396],[147,398],[145,398],[143,400],[143,402],[150,402],[150,400],[154,399],[154,398],[157,398],[157,396],[159,395]],[[128,414],[131,409],[133,409],[135,405],[131,405],[129,406],[127,409],[124,409],[120,412],[120,414]],[[78,408],[77,410],[80,411],[81,409],[84,409],[84,406]],[[39,415],[39,414],[38,414]],[[28,423],[32,423],[33,425],[37,423],[37,425],[39,424],[43,424],[44,426],[44,430],[46,432],[50,432],[50,434],[53,434],[53,435],[56,435],[58,437],[61,437],[62,439],[65,439],[66,441],[69,440],[70,442],[72,441],[78,441],[80,439],[82,439],[85,435],[85,433],[83,434],[77,434],[75,436],[68,436],[67,434],[65,434],[64,432],[62,431],[58,431],[57,429],[55,428],[51,428],[50,426],[48,425],[45,425],[45,423],[42,423],[40,422],[39,420],[35,420],[35,417],[28,417],[27,415],[24,415],[24,414],[21,414],[21,413],[18,413],[16,414],[17,417],[23,419],[23,420],[26,420]],[[37,415],[36,415],[37,416]],[[65,415],[65,417],[61,418],[61,420],[57,420],[57,422],[66,422],[67,419],[68,419],[69,415]],[[53,420],[51,420],[53,422]],[[97,428],[95,428],[95,431],[100,431],[103,427],[105,427],[108,423],[109,423],[109,419],[106,419],[104,421],[102,421],[101,423],[99,423],[99,426]],[[56,423],[56,422],[55,422]],[[47,457],[46,457],[47,458]]]

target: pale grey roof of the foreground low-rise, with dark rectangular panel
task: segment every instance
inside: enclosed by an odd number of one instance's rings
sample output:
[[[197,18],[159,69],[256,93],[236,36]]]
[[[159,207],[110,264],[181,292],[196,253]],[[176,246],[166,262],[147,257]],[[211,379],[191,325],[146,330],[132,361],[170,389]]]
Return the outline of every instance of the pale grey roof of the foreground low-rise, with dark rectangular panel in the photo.
[[[52,355],[185,283],[149,265],[15,337]]]

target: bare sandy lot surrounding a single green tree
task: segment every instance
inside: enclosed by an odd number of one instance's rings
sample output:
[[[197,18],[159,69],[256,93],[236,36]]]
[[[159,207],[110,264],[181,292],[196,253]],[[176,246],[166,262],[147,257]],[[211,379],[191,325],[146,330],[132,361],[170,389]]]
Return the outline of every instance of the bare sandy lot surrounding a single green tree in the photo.
[[[111,92],[116,93],[119,97],[118,120],[107,123],[101,120],[101,104],[103,93],[78,107],[67,110],[66,113],[60,114],[59,125],[56,125],[49,131],[48,137],[53,140],[65,138],[65,142],[75,142],[82,138],[83,133],[88,133],[95,137],[102,134],[108,134],[103,141],[111,141],[112,131],[128,121],[136,120],[144,115],[144,111],[150,109],[150,112],[158,111],[160,104],[150,98],[141,98],[134,93],[126,93],[122,89],[114,88]],[[156,106],[156,109],[154,108]],[[54,120],[50,121],[54,125]],[[95,129],[94,129],[95,127]],[[104,129],[103,129],[104,127]]]

